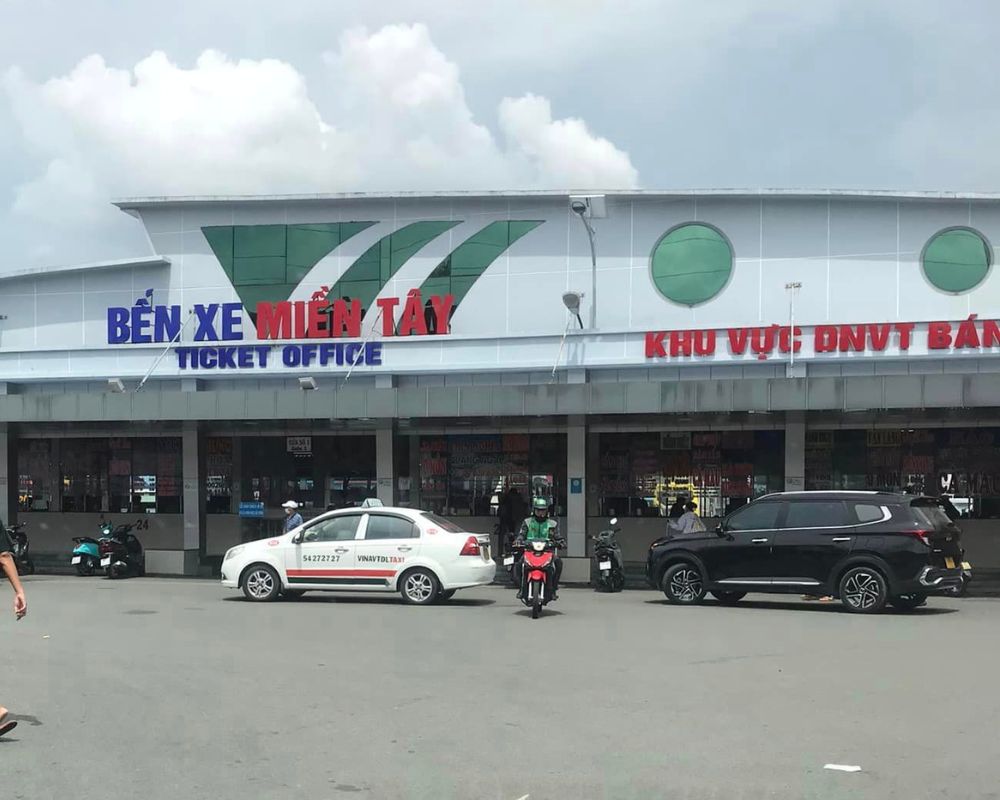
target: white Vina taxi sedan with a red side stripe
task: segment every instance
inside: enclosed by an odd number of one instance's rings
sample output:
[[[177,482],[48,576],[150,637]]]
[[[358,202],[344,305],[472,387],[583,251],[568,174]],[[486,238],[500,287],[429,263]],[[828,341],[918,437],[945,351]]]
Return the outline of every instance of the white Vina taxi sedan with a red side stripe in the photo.
[[[347,508],[288,533],[230,548],[222,585],[250,600],[307,591],[400,592],[408,603],[448,600],[492,582],[487,535],[411,508]]]

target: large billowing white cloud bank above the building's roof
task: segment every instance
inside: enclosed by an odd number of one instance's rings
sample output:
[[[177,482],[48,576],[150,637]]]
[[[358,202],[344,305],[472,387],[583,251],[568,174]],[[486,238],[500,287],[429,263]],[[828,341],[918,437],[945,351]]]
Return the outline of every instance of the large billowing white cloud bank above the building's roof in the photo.
[[[44,83],[8,70],[38,162],[10,219],[39,235],[113,226],[107,200],[131,194],[636,185],[627,154],[581,120],[553,119],[542,97],[500,102],[498,142],[424,25],[351,29],[324,60],[322,110],[290,64],[212,50],[190,67],[154,52],[131,70],[92,55]]]

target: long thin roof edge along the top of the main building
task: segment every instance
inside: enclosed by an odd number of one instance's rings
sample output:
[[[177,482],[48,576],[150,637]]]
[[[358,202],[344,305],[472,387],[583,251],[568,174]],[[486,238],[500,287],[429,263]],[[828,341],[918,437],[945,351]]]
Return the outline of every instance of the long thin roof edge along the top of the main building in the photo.
[[[127,197],[114,200],[123,211],[164,205],[212,205],[233,203],[310,203],[348,200],[442,199],[475,200],[484,198],[569,197],[570,195],[605,195],[620,198],[679,200],[687,197],[725,197],[737,199],[785,198],[793,200],[928,200],[928,201],[993,201],[1000,202],[998,192],[908,192],[890,189],[677,189],[654,191],[646,189],[539,189],[461,192],[330,192],[318,194],[260,195],[190,195]]]

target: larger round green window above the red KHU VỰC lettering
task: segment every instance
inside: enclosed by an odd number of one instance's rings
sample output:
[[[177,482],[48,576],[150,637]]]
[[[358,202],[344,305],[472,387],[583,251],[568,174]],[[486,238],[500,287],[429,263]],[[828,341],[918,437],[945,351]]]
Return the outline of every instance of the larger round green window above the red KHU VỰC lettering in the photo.
[[[675,303],[711,300],[733,273],[733,248],[711,225],[688,222],[667,231],[649,259],[656,290]]]

